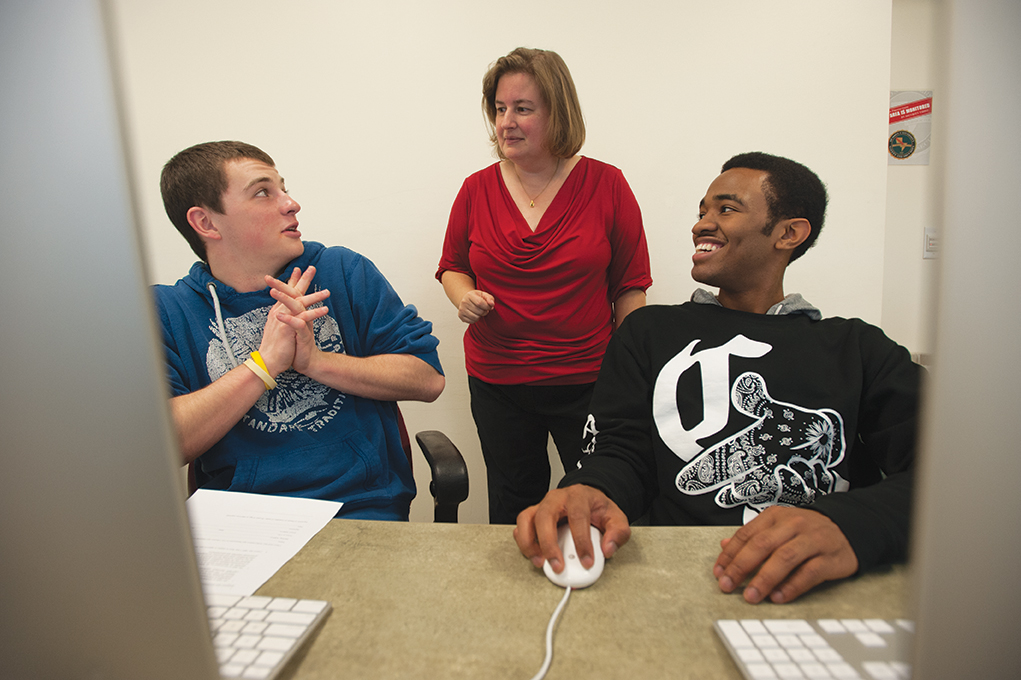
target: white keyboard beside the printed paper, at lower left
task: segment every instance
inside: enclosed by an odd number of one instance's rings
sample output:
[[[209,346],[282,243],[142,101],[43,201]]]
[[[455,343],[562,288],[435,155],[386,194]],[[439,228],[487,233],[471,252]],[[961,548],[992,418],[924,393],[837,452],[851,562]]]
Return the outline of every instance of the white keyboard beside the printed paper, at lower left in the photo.
[[[330,602],[291,597],[205,597],[223,678],[273,680],[330,613]]]

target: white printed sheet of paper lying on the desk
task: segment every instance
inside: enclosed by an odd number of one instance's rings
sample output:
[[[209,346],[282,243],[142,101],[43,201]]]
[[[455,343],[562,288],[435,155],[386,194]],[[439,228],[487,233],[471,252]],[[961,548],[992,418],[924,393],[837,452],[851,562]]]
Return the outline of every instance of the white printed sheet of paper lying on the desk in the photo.
[[[251,595],[319,533],[342,504],[197,490],[186,506],[202,590]]]

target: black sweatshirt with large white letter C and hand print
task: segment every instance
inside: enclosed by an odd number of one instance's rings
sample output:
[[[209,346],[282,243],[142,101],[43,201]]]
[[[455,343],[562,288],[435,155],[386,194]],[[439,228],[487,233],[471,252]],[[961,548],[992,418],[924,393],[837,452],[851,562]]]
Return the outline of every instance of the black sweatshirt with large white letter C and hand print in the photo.
[[[588,455],[561,486],[596,487],[655,525],[808,506],[836,523],[860,570],[904,560],[920,373],[859,319],[643,307],[606,349]]]

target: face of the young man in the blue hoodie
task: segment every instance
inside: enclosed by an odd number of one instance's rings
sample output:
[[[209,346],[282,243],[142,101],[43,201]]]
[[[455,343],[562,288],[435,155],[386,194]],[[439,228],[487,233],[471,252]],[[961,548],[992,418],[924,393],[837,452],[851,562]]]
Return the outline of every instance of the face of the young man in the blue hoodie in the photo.
[[[241,158],[229,161],[224,169],[224,211],[207,211],[215,229],[217,243],[212,247],[217,258],[253,276],[278,274],[304,252],[296,216],[301,206],[287,193],[273,165]]]

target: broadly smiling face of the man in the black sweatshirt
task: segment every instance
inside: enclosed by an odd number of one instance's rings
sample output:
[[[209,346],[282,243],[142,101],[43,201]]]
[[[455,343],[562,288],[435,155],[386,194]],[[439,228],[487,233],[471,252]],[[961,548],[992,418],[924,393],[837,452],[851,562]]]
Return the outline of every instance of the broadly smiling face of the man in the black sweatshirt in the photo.
[[[766,177],[746,167],[729,169],[698,204],[698,222],[691,228],[691,278],[719,287],[721,297],[765,290],[778,279],[782,286],[788,255],[776,246],[783,229],[770,216]]]

